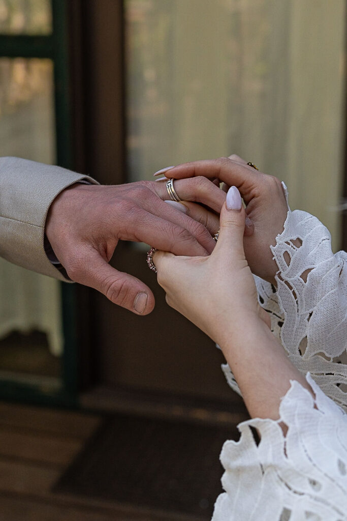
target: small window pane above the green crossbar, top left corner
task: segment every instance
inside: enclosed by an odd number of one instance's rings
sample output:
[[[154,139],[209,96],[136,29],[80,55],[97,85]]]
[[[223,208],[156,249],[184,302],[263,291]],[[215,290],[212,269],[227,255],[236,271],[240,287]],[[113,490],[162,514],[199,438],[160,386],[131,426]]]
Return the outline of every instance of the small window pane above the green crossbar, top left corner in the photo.
[[[52,33],[50,0],[0,0],[0,34]]]

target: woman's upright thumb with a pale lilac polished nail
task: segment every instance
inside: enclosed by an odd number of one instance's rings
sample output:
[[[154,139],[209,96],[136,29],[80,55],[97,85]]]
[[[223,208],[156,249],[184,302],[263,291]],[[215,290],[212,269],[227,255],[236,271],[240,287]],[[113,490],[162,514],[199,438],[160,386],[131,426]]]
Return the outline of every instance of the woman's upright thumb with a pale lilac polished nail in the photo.
[[[243,232],[245,231],[245,209],[242,206],[240,192],[236,187],[230,187],[226,194],[220,217],[220,234],[215,247],[217,252],[221,248],[228,252],[243,252]]]

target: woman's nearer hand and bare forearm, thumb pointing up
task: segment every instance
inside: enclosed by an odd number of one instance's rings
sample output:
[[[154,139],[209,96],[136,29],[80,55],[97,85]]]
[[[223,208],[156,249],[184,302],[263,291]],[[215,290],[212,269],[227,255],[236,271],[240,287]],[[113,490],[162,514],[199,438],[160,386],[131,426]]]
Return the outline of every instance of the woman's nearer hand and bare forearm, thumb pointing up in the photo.
[[[250,415],[277,419],[290,380],[312,389],[271,333],[269,317],[258,304],[243,250],[245,210],[236,187],[228,190],[220,224],[209,257],[155,253],[158,282],[168,304],[219,343]]]

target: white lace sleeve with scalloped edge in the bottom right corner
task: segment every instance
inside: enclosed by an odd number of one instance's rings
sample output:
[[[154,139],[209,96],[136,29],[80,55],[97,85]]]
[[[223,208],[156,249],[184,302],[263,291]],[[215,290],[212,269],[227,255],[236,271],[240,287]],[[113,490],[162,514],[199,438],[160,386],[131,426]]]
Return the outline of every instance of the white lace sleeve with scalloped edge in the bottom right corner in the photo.
[[[309,374],[306,379],[315,400],[292,381],[279,420],[244,421],[240,440],[224,443],[225,493],[212,521],[347,520],[347,414]],[[258,445],[251,427],[258,429]]]

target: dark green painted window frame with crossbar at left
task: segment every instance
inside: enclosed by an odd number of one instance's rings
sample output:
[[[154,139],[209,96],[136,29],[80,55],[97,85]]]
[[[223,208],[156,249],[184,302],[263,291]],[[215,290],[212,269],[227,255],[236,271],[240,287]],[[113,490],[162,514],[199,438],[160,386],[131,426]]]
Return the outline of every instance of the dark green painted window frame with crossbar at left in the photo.
[[[53,32],[49,35],[0,35],[1,58],[49,58],[54,67],[56,163],[72,168],[71,110],[68,48],[68,0],[50,0]],[[61,359],[62,386],[58,391],[38,384],[3,379],[0,398],[47,405],[78,405],[78,355],[76,294],[71,284],[61,283],[64,351]]]

